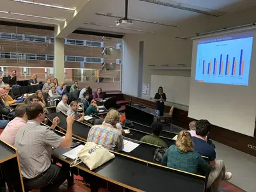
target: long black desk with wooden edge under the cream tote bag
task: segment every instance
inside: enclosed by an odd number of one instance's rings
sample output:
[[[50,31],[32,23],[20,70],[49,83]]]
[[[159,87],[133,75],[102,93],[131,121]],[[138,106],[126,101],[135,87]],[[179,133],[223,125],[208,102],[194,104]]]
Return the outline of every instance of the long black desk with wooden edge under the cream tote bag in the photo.
[[[63,156],[68,150],[70,149],[57,148],[53,150],[52,158],[67,166],[73,161]],[[109,191],[204,191],[203,176],[141,161],[117,152],[112,153],[115,154],[115,159],[95,170],[90,171],[81,163],[71,171],[88,179],[92,192],[98,191],[100,187]]]

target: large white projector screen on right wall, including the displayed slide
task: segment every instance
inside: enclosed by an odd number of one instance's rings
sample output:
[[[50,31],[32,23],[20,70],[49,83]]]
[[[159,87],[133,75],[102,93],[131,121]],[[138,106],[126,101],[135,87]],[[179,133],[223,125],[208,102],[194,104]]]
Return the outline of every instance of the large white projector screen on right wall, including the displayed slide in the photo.
[[[253,136],[255,45],[255,31],[193,40],[189,117]]]

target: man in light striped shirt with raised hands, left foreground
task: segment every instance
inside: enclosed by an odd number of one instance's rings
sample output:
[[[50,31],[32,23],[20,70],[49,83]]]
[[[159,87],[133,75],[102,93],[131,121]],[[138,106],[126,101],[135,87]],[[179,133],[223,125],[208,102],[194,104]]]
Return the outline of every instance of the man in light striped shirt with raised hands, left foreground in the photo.
[[[40,125],[45,118],[44,108],[40,104],[28,105],[26,113],[28,123],[20,127],[14,144],[19,152],[25,191],[58,191],[70,173],[68,168],[51,164],[52,147],[70,147],[74,115],[67,117],[67,133],[62,138],[52,131],[60,122],[58,117],[53,119],[51,129]]]

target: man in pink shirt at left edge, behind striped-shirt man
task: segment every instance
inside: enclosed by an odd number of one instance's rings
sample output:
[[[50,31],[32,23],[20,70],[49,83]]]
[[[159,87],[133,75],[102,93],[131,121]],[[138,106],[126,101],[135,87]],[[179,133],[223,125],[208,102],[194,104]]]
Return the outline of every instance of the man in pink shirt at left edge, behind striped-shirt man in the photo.
[[[6,125],[4,131],[0,135],[0,140],[3,140],[10,145],[14,145],[17,131],[22,125],[26,124],[26,122],[28,121],[26,115],[27,106],[28,105],[24,104],[15,108],[16,117]]]

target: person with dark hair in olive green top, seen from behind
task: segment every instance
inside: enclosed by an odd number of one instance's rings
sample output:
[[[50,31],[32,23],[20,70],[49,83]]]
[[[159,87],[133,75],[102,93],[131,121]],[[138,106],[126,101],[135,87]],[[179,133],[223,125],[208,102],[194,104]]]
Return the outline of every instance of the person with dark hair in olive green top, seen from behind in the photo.
[[[163,130],[163,125],[160,122],[153,122],[151,125],[152,134],[143,136],[140,141],[145,143],[150,143],[152,145],[157,145],[159,147],[168,148],[168,145],[159,138],[161,131]]]

